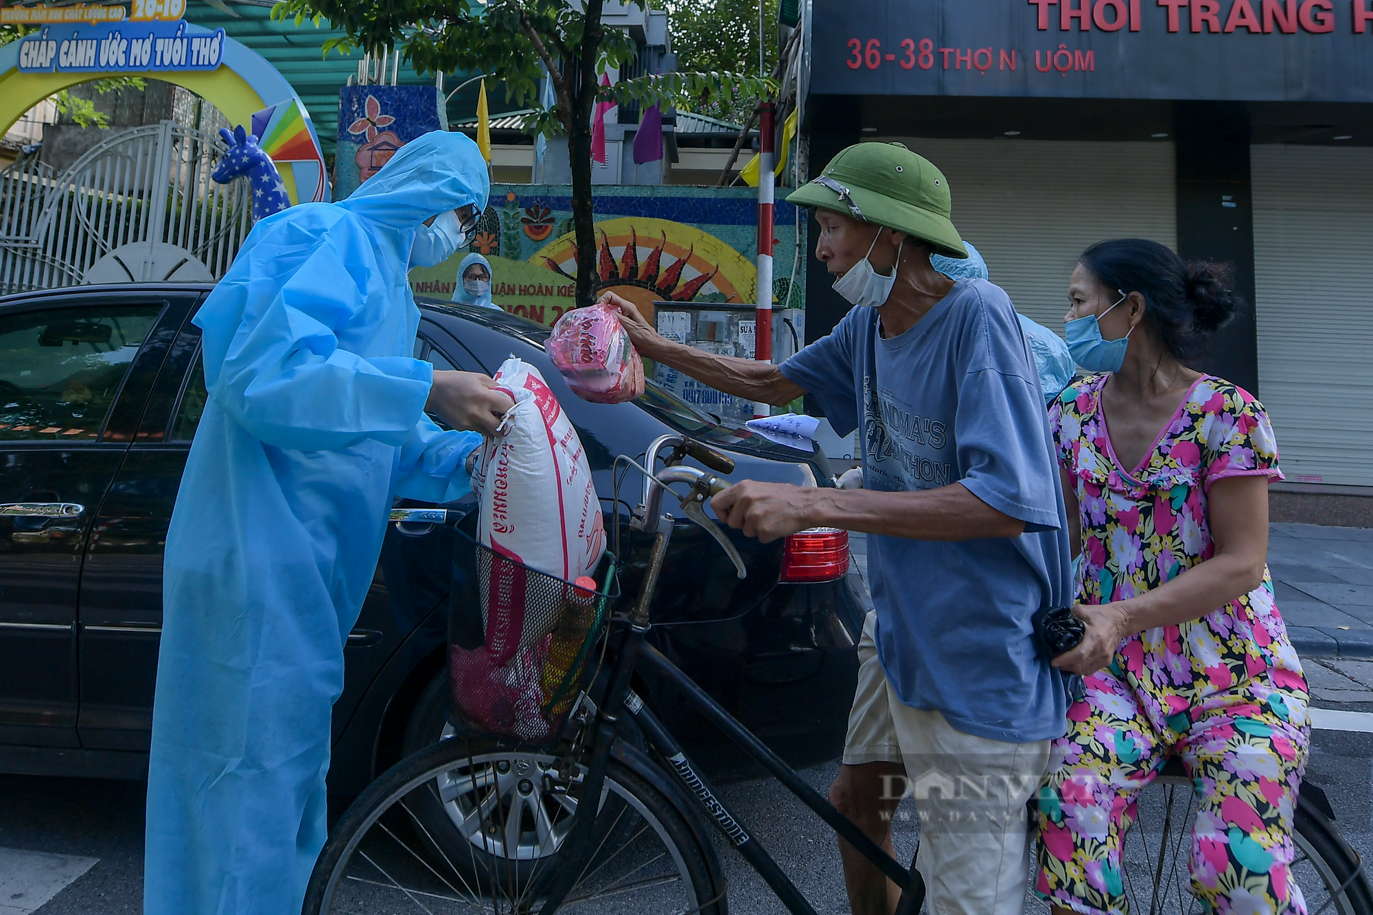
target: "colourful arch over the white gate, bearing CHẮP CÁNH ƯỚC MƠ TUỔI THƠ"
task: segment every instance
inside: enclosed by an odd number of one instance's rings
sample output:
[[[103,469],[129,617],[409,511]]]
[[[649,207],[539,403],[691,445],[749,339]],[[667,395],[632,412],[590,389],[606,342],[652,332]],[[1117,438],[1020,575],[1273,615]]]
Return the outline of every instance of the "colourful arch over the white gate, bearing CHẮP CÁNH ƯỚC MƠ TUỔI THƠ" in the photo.
[[[165,25],[178,26],[177,34],[187,38],[222,36],[222,32],[189,22]],[[63,26],[62,32],[63,36],[71,33],[73,37],[84,37],[86,30],[95,36],[97,34],[95,30],[100,27],[92,23],[78,23]],[[108,25],[103,27],[110,29]],[[183,70],[152,66],[139,69],[125,65],[118,69],[96,66],[77,71],[33,73],[19,69],[21,44],[23,44],[22,38],[0,47],[0,135],[23,117],[25,111],[55,92],[106,77],[146,76],[195,92],[222,111],[229,124],[254,124],[255,115],[270,113],[264,124],[269,131],[275,131],[273,136],[280,144],[281,154],[272,154],[272,157],[287,166],[277,170],[281,173],[281,183],[286,185],[291,203],[330,199],[324,151],[320,147],[314,124],[310,121],[309,110],[281,71],[247,45],[222,36],[218,45],[221,48],[220,59],[213,67],[189,69],[188,63],[188,69]],[[306,146],[312,148],[308,151]]]

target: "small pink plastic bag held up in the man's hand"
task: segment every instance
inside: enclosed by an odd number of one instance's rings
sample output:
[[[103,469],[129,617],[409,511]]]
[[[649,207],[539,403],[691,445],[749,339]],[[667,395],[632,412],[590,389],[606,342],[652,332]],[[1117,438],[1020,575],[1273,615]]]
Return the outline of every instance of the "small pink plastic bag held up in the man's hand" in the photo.
[[[623,404],[644,393],[644,363],[610,305],[566,312],[544,349],[582,400]]]

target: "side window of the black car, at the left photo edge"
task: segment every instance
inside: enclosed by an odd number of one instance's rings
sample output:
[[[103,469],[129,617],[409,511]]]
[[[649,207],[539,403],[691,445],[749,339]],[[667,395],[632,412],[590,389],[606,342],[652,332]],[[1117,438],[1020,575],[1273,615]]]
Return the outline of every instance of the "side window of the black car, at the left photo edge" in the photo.
[[[91,441],[161,305],[0,317],[0,441]]]

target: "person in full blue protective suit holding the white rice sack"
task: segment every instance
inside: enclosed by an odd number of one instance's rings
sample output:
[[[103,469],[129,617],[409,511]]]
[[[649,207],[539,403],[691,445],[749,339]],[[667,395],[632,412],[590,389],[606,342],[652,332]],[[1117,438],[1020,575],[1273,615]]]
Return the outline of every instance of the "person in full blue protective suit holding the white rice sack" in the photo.
[[[417,229],[452,254],[486,194],[472,140],[423,135],[347,199],[258,223],[195,317],[210,397],[166,540],[146,915],[301,911],[386,512],[461,497],[482,441],[426,409],[494,433],[512,407],[411,357]]]

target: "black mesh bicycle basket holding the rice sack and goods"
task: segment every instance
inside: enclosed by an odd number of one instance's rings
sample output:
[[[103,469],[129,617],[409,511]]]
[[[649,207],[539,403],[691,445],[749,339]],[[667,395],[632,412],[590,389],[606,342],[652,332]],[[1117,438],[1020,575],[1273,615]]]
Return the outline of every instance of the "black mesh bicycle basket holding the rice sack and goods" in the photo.
[[[449,716],[519,743],[553,743],[595,666],[619,596],[607,554],[599,591],[494,552],[459,533],[448,613]]]

